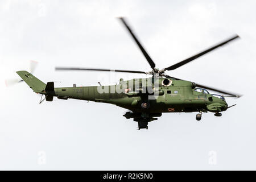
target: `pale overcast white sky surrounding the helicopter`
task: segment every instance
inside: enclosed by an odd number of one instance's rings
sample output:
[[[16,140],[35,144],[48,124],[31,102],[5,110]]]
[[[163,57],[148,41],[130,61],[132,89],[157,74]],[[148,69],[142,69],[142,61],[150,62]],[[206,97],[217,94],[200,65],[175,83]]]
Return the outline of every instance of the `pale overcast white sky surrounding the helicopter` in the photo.
[[[256,169],[255,1],[1,1],[0,169]],[[243,94],[214,117],[166,113],[136,130],[125,109],[80,100],[38,104],[15,71],[39,62],[34,75],[56,86],[114,84],[117,73],[55,72],[55,66],[150,71],[115,18],[126,16],[147,52],[164,68],[238,34],[242,39],[168,75]],[[105,77],[105,78],[102,78]],[[38,163],[38,152],[46,164]],[[217,154],[209,164],[209,152]]]

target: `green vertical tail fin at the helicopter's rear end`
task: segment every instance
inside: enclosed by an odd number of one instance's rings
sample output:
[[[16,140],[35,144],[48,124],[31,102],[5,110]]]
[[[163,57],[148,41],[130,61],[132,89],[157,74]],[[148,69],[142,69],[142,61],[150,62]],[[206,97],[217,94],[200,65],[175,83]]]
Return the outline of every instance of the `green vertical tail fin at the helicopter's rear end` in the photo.
[[[42,92],[42,90],[46,88],[46,84],[33,76],[31,73],[28,73],[27,71],[18,71],[16,73],[22,78],[22,80],[24,80],[24,82],[26,82],[28,86],[30,86],[32,90],[34,90],[34,92]]]

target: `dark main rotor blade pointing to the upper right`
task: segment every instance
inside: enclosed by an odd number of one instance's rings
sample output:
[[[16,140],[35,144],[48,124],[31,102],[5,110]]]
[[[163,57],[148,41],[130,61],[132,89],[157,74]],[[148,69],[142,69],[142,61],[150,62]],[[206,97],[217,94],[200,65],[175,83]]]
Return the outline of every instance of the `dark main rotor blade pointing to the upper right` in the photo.
[[[205,50],[205,51],[203,51],[203,52],[197,53],[196,55],[194,55],[194,56],[192,56],[192,57],[189,57],[188,59],[185,59],[185,60],[183,60],[183,61],[180,61],[179,63],[176,63],[176,64],[174,64],[174,65],[171,65],[171,67],[167,67],[167,68],[165,68],[165,69],[166,69],[166,70],[174,70],[174,69],[176,69],[176,68],[179,68],[179,67],[181,67],[182,65],[187,64],[187,63],[189,63],[189,62],[191,62],[191,61],[197,59],[198,57],[203,56],[203,55],[205,55],[206,53],[208,53],[208,52],[210,52],[210,51],[213,51],[214,49],[216,49],[216,48],[218,48],[218,47],[221,47],[221,46],[223,46],[224,44],[229,43],[230,41],[232,41],[232,40],[234,40],[234,39],[237,39],[237,38],[240,38],[240,37],[239,37],[238,35],[235,35],[235,36],[233,36],[232,38],[230,38],[230,39],[228,39],[228,40],[225,40],[224,42],[221,42],[220,44],[217,44],[216,46],[213,46],[213,47],[211,47],[211,48],[209,48],[209,49],[207,49],[207,50]]]

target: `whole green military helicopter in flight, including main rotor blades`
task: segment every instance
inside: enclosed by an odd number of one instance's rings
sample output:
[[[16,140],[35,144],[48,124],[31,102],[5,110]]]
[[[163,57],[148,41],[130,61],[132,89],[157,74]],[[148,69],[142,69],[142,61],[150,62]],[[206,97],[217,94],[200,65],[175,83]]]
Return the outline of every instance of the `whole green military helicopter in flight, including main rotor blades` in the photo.
[[[212,112],[217,117],[221,116],[221,112],[229,107],[225,101],[225,97],[241,97],[236,93],[226,92],[224,90],[204,86],[191,81],[181,80],[172,76],[166,75],[166,71],[171,71],[187,64],[200,56],[205,55],[214,49],[239,38],[238,35],[225,40],[210,47],[207,50],[197,53],[179,63],[170,67],[158,69],[155,68],[155,63],[142,47],[141,43],[134,35],[131,28],[127,25],[124,18],[119,18],[124,26],[129,31],[141,49],[144,57],[151,67],[150,72],[129,71],[129,70],[114,70],[115,72],[125,73],[142,73],[151,75],[149,78],[139,78],[128,81],[123,81],[121,78],[119,84],[110,86],[82,86],[55,88],[54,82],[44,82],[38,80],[35,76],[27,71],[18,71],[18,75],[30,86],[36,93],[44,95],[43,100],[52,101],[53,97],[67,100],[69,98],[78,100],[87,100],[94,102],[104,102],[114,104],[130,111],[123,116],[127,119],[133,118],[138,122],[138,129],[148,129],[148,122],[154,121],[160,117],[162,113],[181,113],[181,112],[198,112],[196,120],[200,121],[202,113]],[[110,72],[113,69],[96,69],[96,68],[64,68],[56,67],[57,71],[104,71]],[[208,90],[213,90],[226,96],[210,94]],[[41,97],[40,103],[43,101]]]

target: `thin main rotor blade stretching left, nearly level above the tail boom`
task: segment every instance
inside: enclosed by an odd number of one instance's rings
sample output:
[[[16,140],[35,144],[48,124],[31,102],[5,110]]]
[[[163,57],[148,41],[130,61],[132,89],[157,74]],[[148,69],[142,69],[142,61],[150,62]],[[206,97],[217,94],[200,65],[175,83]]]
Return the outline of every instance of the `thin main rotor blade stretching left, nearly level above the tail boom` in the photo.
[[[64,68],[64,67],[56,67],[56,71],[103,71],[103,72],[125,72],[125,73],[143,73],[142,71],[129,71],[129,70],[120,70],[120,69],[96,69],[96,68]]]

